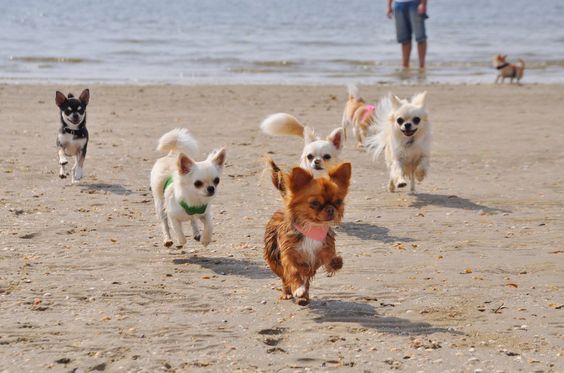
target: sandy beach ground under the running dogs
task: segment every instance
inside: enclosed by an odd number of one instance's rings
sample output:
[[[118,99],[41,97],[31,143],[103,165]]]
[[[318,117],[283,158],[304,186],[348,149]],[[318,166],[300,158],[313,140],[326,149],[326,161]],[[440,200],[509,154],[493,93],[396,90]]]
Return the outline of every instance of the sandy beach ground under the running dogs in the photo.
[[[0,86],[0,371],[564,371],[563,86],[364,87],[429,90],[432,171],[391,194],[347,143],[345,265],[307,307],[262,260],[281,202],[261,157],[293,165],[302,143],[258,124],[287,111],[326,134],[344,87],[90,86],[79,185],[57,177],[69,88]],[[161,245],[148,175],[176,126],[202,157],[228,147],[207,248]]]

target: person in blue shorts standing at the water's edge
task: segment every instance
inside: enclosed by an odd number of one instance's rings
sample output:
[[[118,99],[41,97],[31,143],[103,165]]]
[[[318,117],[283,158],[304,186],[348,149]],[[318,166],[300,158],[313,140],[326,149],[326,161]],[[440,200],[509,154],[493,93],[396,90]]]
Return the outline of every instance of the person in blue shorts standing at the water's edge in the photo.
[[[396,36],[401,44],[402,66],[409,68],[411,55],[411,39],[415,34],[417,54],[419,55],[419,68],[425,68],[427,54],[427,34],[425,33],[425,19],[427,16],[427,0],[387,0],[388,18],[394,17],[396,21]],[[392,6],[393,2],[393,6]]]

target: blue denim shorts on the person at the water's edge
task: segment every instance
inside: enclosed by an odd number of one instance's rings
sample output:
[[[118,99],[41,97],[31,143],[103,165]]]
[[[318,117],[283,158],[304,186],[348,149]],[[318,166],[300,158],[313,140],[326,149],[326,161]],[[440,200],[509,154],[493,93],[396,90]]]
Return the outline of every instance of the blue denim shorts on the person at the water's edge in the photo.
[[[415,40],[421,43],[427,40],[425,33],[426,14],[417,13],[419,0],[409,2],[394,2],[394,18],[396,20],[396,35],[398,43],[411,41],[415,34]]]

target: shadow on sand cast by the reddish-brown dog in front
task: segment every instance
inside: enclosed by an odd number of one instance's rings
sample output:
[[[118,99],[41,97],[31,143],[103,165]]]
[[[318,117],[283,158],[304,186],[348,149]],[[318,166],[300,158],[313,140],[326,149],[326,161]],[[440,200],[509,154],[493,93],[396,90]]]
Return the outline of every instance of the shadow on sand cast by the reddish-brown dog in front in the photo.
[[[313,312],[313,320],[317,323],[353,323],[379,332],[397,335],[464,334],[452,329],[436,327],[426,322],[413,322],[401,317],[382,316],[376,312],[373,306],[365,303],[314,299],[309,304],[309,309]]]

